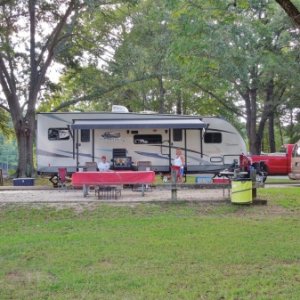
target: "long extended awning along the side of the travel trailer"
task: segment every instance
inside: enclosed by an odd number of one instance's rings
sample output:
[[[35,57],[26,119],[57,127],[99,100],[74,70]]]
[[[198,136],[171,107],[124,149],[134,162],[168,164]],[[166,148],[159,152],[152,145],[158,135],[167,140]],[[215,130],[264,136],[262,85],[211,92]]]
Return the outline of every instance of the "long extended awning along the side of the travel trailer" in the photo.
[[[177,128],[203,129],[208,124],[199,118],[167,119],[110,119],[110,120],[73,120],[71,129],[139,129],[139,128]]]

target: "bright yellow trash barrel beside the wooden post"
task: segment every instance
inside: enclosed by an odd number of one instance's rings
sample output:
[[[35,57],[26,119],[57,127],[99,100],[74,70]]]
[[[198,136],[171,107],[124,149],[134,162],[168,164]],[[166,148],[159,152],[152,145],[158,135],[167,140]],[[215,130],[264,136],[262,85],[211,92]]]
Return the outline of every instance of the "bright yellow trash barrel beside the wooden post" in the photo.
[[[251,179],[235,179],[231,181],[231,202],[237,204],[252,203]]]

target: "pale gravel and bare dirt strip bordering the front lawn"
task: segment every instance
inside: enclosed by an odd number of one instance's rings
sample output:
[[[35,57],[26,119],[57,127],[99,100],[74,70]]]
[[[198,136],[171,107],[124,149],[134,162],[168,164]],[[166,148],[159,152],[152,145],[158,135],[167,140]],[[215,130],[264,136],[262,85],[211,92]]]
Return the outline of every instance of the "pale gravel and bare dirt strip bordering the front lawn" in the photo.
[[[183,189],[177,191],[177,200],[198,203],[205,213],[211,205],[230,204],[230,191],[228,189]],[[118,199],[98,199],[94,190],[90,190],[88,196],[83,197],[81,189],[0,187],[0,209],[8,205],[25,205],[35,208],[47,206],[55,209],[71,208],[81,213],[84,210],[94,210],[100,204],[134,207],[140,203],[171,203],[171,191],[156,187],[146,191],[142,196],[141,191],[123,189]],[[247,209],[248,205],[242,205],[235,213],[241,216],[253,215],[255,218],[291,214],[289,210],[270,203],[261,203],[260,200],[256,204],[266,205],[259,205],[260,208],[254,210]]]

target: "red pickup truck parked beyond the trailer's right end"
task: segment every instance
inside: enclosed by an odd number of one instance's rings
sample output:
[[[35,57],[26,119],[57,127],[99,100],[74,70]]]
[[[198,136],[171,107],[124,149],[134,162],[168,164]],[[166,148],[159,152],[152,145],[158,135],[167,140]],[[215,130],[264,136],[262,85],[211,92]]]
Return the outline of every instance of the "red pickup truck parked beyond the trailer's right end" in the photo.
[[[284,145],[284,152],[268,153],[261,155],[247,155],[250,162],[263,162],[268,175],[288,175],[291,172],[291,158],[295,144]]]

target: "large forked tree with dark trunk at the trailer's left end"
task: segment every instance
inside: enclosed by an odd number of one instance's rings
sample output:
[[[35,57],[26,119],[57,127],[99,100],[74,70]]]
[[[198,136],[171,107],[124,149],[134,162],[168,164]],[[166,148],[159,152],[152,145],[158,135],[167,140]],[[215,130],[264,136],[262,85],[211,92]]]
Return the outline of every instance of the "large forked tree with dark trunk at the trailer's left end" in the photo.
[[[13,9],[6,10],[8,15],[3,21],[3,26],[1,23],[1,29],[4,28],[3,36],[5,37],[5,43],[3,47],[0,47],[0,93],[1,98],[2,94],[6,98],[7,110],[9,109],[11,114],[16,133],[19,152],[17,177],[32,177],[34,171],[33,139],[35,134],[35,108],[38,94],[41,86],[44,84],[47,70],[55,54],[60,51],[59,49],[63,48],[67,39],[72,36],[71,31],[74,29],[76,22],[73,12],[75,12],[75,9],[83,8],[84,5],[81,4],[81,1],[77,0],[66,1],[64,13],[56,10],[58,9],[56,4],[53,5],[54,8],[51,12],[58,17],[56,18],[56,23],[52,24],[53,28],[51,32],[45,34],[39,33],[39,37],[37,38],[37,24],[44,24],[48,20],[47,13],[44,13],[43,1],[6,2],[12,2],[11,4],[9,3],[9,7],[13,7]],[[21,12],[18,12],[18,9],[21,9]],[[24,17],[23,23],[27,24],[28,28],[23,28],[23,25],[15,17],[17,12],[20,16]],[[3,12],[1,12],[2,15]],[[27,17],[28,19],[25,19]],[[70,17],[72,17],[72,20],[69,22]],[[18,42],[17,37],[19,34],[16,34],[16,41],[14,41],[14,35],[20,28],[24,32],[28,29],[28,32],[22,37],[22,40],[23,38],[25,39],[22,43],[27,46],[25,47],[26,49],[21,47],[24,50],[20,50],[20,54],[14,55],[16,50],[14,47],[16,42]],[[19,40],[21,40],[21,36],[23,35],[20,34]],[[29,39],[26,38],[27,36]],[[28,48],[29,51],[27,51]],[[22,72],[19,72],[18,68],[15,70],[15,65],[22,66]],[[17,75],[18,73],[20,74]],[[20,82],[18,82],[19,80]],[[25,85],[27,87],[26,92],[22,88]]]

